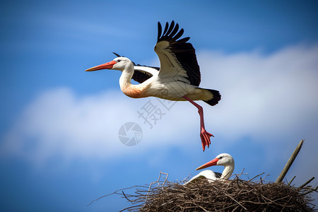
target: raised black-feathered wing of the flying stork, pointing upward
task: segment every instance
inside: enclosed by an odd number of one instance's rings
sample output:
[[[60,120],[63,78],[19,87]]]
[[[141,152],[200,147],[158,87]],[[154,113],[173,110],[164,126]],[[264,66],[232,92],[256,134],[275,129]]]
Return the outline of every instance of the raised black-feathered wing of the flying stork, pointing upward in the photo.
[[[190,37],[180,40],[184,30],[179,30],[179,25],[172,20],[170,26],[165,24],[162,27],[158,22],[158,40],[155,45],[155,53],[160,59],[159,76],[162,78],[175,78],[194,86],[199,86],[201,74],[199,64],[196,61],[195,49],[187,42]]]

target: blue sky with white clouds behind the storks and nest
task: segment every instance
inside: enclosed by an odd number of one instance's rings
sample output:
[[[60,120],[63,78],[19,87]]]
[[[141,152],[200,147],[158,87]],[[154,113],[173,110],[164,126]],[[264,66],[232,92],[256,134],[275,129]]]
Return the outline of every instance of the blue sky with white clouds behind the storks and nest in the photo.
[[[300,139],[286,177],[318,177],[317,9],[317,1],[1,2],[1,209],[119,211],[129,206],[119,196],[86,204],[149,184],[160,170],[170,181],[196,175],[219,153],[235,158],[235,173],[274,181]],[[215,136],[204,153],[191,104],[165,110],[122,94],[119,71],[84,71],[112,52],[158,66],[157,22],[171,20],[191,37],[201,86],[222,95],[215,107],[200,102]],[[152,129],[137,113],[149,100],[165,113]],[[143,129],[136,146],[119,141],[126,122]]]

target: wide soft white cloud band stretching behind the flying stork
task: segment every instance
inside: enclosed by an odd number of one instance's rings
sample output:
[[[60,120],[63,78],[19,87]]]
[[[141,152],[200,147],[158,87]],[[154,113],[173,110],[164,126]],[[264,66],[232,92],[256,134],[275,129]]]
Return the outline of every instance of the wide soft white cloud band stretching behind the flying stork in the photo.
[[[218,148],[242,136],[251,136],[254,142],[266,141],[266,146],[318,137],[318,45],[288,47],[270,55],[198,52],[197,56],[201,87],[222,94],[215,107],[200,103],[207,130],[215,134],[216,141],[224,140],[218,142]],[[153,129],[148,129],[137,114],[148,100],[165,112]],[[167,111],[155,98],[126,97],[118,86],[118,90],[86,97],[76,96],[69,88],[43,92],[4,136],[1,151],[37,163],[53,155],[67,159],[121,157],[131,152],[118,139],[118,130],[125,122],[137,122],[144,131],[134,151],[156,146],[187,148],[187,143],[201,148],[199,115],[193,105],[177,102]],[[317,151],[314,142],[306,145],[310,153]],[[317,154],[313,157],[318,161]]]

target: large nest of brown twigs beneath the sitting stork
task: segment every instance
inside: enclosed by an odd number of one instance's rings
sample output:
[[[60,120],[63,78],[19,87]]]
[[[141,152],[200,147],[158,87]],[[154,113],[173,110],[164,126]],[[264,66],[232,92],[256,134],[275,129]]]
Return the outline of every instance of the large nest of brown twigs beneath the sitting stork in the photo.
[[[134,186],[112,194],[131,202],[132,206],[122,211],[314,211],[310,192],[316,192],[317,188],[252,179],[243,180],[236,175],[226,181],[210,183],[199,179],[183,185],[169,182],[167,177],[161,180],[159,176],[150,186]],[[134,194],[128,194],[127,189],[135,189]]]

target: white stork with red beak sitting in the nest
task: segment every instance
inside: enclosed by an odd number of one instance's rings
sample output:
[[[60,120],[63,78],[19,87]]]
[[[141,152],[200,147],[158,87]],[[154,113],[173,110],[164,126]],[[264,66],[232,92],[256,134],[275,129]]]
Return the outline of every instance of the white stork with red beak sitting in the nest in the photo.
[[[208,179],[208,182],[213,182],[216,179],[228,179],[229,177],[231,177],[231,175],[234,171],[234,160],[233,160],[232,156],[229,155],[228,153],[222,153],[222,154],[216,156],[216,158],[214,158],[213,160],[211,160],[210,162],[208,162],[204,165],[201,165],[200,167],[196,168],[196,170],[201,170],[201,169],[204,169],[206,167],[210,167],[212,165],[223,165],[224,170],[223,170],[222,174],[219,172],[213,172],[211,170],[204,170],[204,171],[200,172],[198,175],[192,177],[185,184],[188,184],[190,182],[196,182],[197,180],[202,179],[202,178]]]

